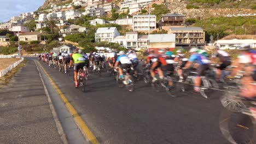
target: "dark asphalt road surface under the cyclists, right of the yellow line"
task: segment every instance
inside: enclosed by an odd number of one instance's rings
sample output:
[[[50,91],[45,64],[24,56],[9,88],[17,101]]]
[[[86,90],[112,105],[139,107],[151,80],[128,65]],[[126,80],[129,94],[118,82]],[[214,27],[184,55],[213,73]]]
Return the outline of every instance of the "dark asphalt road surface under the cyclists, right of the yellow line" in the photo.
[[[41,63],[101,143],[229,143],[219,130],[220,93],[172,98],[142,81],[128,92],[106,74],[91,75],[83,93],[72,76]]]

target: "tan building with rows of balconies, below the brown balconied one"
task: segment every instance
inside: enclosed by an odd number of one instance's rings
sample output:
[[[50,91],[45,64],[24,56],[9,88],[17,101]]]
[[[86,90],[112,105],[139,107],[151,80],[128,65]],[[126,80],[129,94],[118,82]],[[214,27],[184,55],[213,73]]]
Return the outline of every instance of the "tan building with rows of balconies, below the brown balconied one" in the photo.
[[[168,34],[176,34],[176,45],[206,45],[205,32],[201,27],[171,27]]]

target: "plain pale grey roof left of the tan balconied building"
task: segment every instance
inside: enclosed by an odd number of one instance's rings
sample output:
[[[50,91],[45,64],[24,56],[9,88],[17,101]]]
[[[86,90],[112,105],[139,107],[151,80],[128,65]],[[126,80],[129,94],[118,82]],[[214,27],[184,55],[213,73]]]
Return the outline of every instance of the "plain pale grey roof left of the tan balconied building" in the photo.
[[[149,43],[175,43],[175,34],[149,34]]]

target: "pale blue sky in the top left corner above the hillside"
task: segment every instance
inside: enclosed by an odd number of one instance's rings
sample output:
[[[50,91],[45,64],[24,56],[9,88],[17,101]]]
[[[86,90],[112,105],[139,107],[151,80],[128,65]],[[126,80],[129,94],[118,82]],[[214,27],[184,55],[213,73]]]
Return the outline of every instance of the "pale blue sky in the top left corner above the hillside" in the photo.
[[[0,0],[0,22],[7,22],[13,16],[36,11],[45,0]]]

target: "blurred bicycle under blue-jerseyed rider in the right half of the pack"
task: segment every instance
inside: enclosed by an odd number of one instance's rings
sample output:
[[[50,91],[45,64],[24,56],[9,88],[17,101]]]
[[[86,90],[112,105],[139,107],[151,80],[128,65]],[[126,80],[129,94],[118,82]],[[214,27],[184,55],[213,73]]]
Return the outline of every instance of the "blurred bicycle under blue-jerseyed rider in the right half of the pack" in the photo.
[[[195,79],[196,79],[197,73],[194,71],[185,71],[183,72],[184,82],[181,82],[181,89],[182,92],[188,91],[189,87],[194,86]],[[201,87],[199,88],[199,93],[202,95],[202,97],[205,97],[206,99],[209,98],[208,94],[211,93],[212,89],[219,89],[218,83],[211,79],[207,78],[206,76],[201,76]]]

